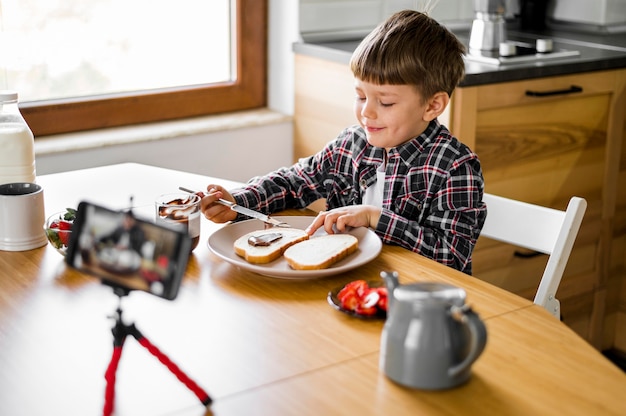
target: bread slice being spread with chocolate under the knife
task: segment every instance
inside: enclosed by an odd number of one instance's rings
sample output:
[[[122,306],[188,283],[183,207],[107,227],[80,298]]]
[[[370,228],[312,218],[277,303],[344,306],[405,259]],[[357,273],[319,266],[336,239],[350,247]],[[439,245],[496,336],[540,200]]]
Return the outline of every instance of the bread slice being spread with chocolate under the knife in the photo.
[[[261,237],[266,234],[278,233],[282,237],[273,241],[268,246],[254,246],[248,243],[252,236]],[[298,228],[269,228],[267,230],[252,231],[235,240],[234,248],[237,255],[243,257],[248,263],[270,263],[283,255],[285,250],[296,243],[307,240],[309,235]]]

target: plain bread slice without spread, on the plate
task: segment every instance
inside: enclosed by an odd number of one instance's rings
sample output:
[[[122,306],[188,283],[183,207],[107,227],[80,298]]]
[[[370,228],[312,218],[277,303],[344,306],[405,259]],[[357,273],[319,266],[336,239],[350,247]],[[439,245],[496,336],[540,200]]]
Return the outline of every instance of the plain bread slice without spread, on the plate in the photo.
[[[285,260],[295,270],[326,269],[354,253],[359,240],[351,234],[313,237],[285,250]]]

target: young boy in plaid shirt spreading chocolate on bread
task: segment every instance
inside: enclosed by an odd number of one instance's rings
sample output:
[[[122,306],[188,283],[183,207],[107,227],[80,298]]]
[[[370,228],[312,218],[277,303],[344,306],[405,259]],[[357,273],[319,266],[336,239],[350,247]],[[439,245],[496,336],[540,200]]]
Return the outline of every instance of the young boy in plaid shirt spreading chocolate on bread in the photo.
[[[202,212],[214,222],[243,219],[218,198],[273,213],[326,198],[309,234],[369,227],[384,243],[471,274],[486,207],[478,157],[437,117],[465,74],[463,45],[427,15],[391,16],[350,62],[358,125],[316,155],[231,192],[208,185]]]

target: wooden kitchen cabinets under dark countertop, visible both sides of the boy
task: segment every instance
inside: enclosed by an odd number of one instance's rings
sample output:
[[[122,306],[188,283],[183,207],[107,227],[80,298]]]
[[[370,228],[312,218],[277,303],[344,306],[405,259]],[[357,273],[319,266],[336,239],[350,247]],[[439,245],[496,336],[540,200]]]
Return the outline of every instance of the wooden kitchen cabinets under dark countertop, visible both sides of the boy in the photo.
[[[296,55],[295,69],[297,159],[356,120],[347,65]],[[487,192],[559,209],[587,200],[558,292],[563,320],[596,348],[623,351],[625,102],[626,70],[598,71],[458,88],[440,118],[479,155]],[[532,299],[546,260],[483,238],[474,276]]]

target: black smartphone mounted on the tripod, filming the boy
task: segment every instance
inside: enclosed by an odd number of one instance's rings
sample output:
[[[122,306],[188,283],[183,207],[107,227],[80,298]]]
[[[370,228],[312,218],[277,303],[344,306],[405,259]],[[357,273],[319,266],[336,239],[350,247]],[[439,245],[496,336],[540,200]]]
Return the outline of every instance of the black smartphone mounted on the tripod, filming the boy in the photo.
[[[78,205],[65,261],[127,293],[141,290],[173,300],[189,260],[186,230],[89,202]]]

